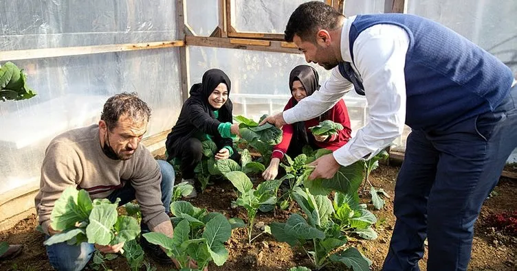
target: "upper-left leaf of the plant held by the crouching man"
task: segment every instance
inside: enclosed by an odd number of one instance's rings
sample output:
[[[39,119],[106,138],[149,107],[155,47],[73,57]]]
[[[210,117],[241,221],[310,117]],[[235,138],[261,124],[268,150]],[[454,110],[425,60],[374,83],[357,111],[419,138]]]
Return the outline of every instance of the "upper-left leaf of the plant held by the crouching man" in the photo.
[[[88,219],[84,211],[77,205],[79,191],[75,187],[68,187],[54,203],[50,215],[52,228],[55,231],[65,231],[74,228],[76,222]]]

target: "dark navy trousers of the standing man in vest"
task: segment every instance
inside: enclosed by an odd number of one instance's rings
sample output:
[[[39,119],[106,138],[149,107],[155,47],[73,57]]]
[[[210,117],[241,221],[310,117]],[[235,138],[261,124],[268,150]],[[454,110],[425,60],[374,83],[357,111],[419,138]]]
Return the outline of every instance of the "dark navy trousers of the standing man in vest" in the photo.
[[[383,270],[467,270],[474,222],[517,147],[517,86],[493,112],[444,130],[413,130],[395,186],[397,217]]]

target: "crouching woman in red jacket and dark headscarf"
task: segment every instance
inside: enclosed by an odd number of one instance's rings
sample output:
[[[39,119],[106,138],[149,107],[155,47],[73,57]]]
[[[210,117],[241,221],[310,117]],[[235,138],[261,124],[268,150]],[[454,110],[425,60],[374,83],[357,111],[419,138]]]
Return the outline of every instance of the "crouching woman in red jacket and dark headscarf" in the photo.
[[[313,67],[308,65],[295,67],[289,75],[289,89],[291,90],[292,97],[287,102],[284,111],[294,107],[301,99],[312,95],[314,91],[318,91],[320,88],[318,80],[318,71]],[[344,128],[339,130],[338,134],[331,137],[318,136],[311,133],[310,127],[317,126],[321,121],[327,119],[341,123]],[[285,125],[282,130],[282,142],[273,148],[270,165],[262,174],[266,180],[276,178],[278,165],[285,154],[294,158],[302,154],[303,146],[305,145],[310,145],[313,150],[320,148],[338,150],[338,148],[349,141],[352,131],[347,106],[344,105],[342,99],[333,108],[319,117]]]

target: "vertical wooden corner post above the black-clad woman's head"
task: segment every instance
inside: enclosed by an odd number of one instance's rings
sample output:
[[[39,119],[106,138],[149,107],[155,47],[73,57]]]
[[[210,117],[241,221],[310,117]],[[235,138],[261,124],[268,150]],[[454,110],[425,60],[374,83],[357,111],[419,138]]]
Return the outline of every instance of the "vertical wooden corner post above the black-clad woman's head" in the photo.
[[[186,5],[184,0],[177,0],[177,30],[178,38],[185,40],[186,36]],[[179,47],[179,76],[181,80],[181,97],[185,101],[188,98],[188,88],[190,86],[190,70],[188,68],[188,49],[186,46]]]

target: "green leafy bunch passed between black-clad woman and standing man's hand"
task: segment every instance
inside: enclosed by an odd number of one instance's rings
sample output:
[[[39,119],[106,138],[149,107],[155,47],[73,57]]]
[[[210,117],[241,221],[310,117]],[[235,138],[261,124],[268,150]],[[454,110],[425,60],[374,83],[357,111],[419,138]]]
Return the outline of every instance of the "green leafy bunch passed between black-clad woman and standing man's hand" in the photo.
[[[261,119],[265,119],[265,117],[267,116],[262,116]],[[259,126],[259,123],[243,116],[236,116],[234,119],[240,123],[239,133],[241,137],[250,143],[262,141],[269,145],[276,145],[282,141],[282,130],[276,128],[271,123]]]

